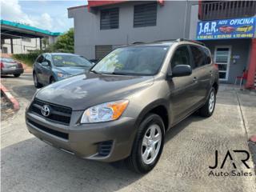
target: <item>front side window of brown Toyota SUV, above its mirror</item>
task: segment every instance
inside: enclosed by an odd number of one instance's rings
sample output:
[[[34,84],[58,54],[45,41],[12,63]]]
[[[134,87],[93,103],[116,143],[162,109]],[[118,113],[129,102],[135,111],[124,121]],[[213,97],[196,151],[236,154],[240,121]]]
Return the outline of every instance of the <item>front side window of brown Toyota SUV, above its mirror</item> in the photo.
[[[178,47],[177,50],[175,50],[174,56],[171,59],[170,65],[171,65],[171,68],[174,68],[174,66],[178,66],[178,65],[191,66],[190,52],[187,49],[187,46],[181,46],[181,47]]]

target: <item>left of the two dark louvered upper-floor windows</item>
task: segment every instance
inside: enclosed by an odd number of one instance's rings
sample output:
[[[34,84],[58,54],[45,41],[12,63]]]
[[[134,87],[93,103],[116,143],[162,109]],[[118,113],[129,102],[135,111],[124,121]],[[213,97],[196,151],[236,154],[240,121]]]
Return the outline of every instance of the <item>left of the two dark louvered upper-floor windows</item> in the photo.
[[[101,10],[101,30],[118,29],[119,8]]]

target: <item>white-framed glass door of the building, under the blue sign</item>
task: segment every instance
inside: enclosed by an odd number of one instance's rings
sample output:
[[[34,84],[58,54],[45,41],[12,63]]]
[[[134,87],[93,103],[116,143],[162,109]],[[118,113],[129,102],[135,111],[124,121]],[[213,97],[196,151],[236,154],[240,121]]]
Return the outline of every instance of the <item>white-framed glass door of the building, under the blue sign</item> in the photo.
[[[229,78],[231,46],[216,46],[214,62],[218,65],[219,80],[227,81]]]

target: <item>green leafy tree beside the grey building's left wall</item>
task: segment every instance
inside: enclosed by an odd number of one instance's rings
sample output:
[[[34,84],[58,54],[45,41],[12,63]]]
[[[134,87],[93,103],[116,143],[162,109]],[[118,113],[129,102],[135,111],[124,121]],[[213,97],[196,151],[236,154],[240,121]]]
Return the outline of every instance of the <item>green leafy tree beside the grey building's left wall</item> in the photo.
[[[58,37],[54,49],[59,52],[74,53],[74,28]]]

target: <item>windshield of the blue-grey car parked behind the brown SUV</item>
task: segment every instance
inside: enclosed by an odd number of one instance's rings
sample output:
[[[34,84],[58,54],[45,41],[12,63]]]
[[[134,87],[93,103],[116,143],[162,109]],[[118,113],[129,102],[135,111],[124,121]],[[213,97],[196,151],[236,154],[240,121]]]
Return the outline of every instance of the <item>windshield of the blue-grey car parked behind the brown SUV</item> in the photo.
[[[90,67],[92,64],[86,58],[78,55],[53,55],[54,66],[85,66]]]

